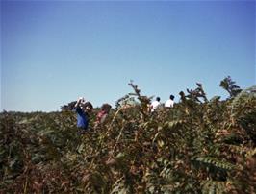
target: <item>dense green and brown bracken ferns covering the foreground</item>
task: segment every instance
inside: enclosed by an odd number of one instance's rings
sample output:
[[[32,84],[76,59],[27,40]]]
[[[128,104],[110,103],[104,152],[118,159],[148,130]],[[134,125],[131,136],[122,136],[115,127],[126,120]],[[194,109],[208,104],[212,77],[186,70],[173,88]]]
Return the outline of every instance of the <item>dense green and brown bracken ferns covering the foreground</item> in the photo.
[[[150,114],[130,85],[82,136],[68,109],[2,112],[0,193],[256,193],[256,86],[227,78],[220,101],[197,84]]]

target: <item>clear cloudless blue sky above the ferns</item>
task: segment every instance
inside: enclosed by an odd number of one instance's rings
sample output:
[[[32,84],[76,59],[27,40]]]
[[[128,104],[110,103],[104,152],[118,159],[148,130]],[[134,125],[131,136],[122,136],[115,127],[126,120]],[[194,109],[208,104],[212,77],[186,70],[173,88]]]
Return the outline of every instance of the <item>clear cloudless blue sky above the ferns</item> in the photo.
[[[255,85],[255,1],[1,1],[1,109],[95,107],[132,91],[160,96],[230,75]]]

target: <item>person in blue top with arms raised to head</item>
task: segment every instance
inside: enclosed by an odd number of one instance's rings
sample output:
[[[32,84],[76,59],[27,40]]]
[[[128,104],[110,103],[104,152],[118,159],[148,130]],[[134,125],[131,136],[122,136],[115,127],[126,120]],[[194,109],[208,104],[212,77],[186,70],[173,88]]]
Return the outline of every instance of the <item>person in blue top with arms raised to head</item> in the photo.
[[[90,102],[86,102],[84,98],[80,97],[75,106],[74,111],[77,113],[77,127],[79,133],[85,133],[89,127],[89,113],[93,109]]]

